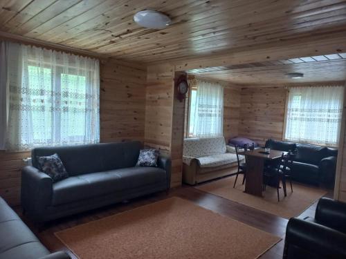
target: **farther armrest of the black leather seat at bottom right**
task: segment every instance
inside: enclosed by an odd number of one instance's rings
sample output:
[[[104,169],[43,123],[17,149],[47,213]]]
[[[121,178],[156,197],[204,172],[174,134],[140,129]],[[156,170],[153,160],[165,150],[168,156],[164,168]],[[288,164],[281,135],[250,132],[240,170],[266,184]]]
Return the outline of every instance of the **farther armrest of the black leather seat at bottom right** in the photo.
[[[316,207],[315,219],[319,224],[346,234],[346,203],[321,198]]]

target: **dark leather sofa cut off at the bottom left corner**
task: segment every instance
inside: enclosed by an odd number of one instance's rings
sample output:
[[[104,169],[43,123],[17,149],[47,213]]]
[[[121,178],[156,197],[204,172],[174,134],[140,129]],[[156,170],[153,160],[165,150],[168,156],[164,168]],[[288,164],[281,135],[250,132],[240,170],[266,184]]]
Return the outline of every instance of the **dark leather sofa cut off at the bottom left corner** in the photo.
[[[69,259],[64,251],[50,253],[0,197],[0,259]]]

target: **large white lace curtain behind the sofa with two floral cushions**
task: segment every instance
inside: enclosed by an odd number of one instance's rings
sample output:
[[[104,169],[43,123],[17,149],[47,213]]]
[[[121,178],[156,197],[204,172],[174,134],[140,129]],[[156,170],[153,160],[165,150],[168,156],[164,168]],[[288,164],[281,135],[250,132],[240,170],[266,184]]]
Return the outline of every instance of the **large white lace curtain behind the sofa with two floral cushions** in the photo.
[[[1,105],[1,117],[6,117],[3,149],[99,142],[97,59],[10,42],[1,43],[3,53],[0,70],[6,79],[1,79],[0,88],[7,96],[6,106]]]

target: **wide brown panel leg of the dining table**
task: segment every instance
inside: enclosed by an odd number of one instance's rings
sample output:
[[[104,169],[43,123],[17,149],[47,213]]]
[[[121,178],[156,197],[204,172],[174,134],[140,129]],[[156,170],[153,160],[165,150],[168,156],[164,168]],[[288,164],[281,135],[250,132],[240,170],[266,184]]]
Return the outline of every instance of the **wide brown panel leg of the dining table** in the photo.
[[[248,155],[246,157],[245,192],[262,197],[264,159]]]

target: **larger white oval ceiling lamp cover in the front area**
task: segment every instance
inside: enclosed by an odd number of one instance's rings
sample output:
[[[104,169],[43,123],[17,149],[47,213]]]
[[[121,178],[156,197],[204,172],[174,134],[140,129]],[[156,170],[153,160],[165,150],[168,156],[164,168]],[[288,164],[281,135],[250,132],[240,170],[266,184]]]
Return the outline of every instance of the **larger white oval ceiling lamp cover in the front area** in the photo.
[[[134,21],[142,27],[158,30],[166,28],[171,23],[170,17],[163,15],[161,12],[152,10],[137,12],[136,15],[134,15]]]

